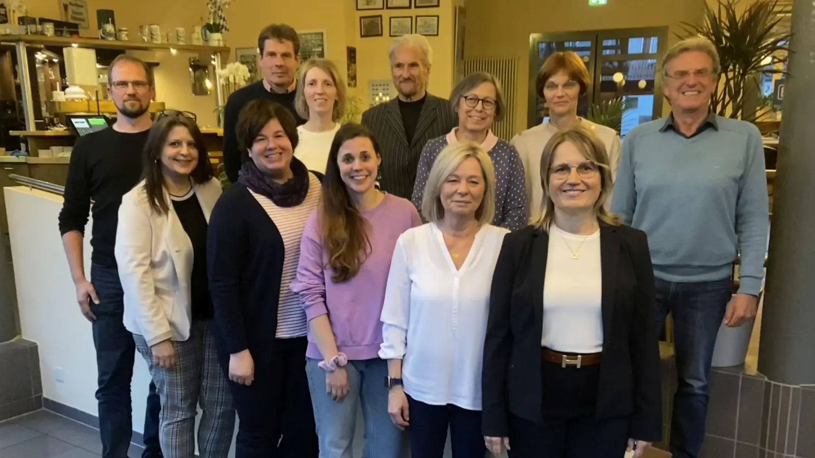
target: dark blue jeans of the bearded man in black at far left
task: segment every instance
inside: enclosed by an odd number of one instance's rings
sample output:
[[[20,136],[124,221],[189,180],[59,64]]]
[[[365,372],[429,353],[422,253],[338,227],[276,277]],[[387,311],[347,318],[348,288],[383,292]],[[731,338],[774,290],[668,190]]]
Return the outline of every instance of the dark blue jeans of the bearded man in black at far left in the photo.
[[[126,458],[133,434],[130,381],[136,344],[122,323],[124,293],[116,267],[90,266],[90,280],[99,296],[92,304],[96,367],[99,371],[96,400],[99,401],[99,434],[103,458]],[[147,412],[144,416],[144,458],[161,456],[158,440],[158,416],[161,400],[156,385],[150,382]]]

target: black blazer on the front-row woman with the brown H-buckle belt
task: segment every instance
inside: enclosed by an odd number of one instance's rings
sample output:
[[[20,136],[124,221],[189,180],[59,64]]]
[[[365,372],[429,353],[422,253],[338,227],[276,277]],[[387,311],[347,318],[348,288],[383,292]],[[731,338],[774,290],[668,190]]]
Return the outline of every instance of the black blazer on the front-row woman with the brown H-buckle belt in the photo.
[[[509,436],[509,413],[541,423],[548,233],[507,234],[496,264],[482,372],[485,436]],[[597,419],[632,416],[629,438],[662,437],[654,271],[645,232],[601,224],[603,350]]]

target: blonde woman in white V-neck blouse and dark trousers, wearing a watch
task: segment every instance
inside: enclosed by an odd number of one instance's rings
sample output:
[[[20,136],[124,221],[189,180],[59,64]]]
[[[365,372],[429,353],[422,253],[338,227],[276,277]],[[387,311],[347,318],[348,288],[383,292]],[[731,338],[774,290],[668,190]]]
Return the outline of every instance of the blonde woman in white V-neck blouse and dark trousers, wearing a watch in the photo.
[[[477,143],[454,143],[434,161],[421,213],[399,236],[382,309],[388,412],[410,428],[412,456],[483,454],[481,366],[490,281],[504,235],[491,226],[496,176]],[[409,342],[409,343],[408,343]]]

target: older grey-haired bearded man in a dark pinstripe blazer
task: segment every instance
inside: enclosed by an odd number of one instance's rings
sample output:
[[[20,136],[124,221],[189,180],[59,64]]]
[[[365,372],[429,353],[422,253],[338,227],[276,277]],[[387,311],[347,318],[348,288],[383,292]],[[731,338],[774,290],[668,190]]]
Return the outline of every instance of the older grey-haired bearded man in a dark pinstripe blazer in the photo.
[[[399,97],[368,109],[362,123],[382,149],[379,186],[410,199],[421,148],[457,124],[447,99],[427,93],[433,49],[421,35],[403,35],[390,45],[390,69]]]

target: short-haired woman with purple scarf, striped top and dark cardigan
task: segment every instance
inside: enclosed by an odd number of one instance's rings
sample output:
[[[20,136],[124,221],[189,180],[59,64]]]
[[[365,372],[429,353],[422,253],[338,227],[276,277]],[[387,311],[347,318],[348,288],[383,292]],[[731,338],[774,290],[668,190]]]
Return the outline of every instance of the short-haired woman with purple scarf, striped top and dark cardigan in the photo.
[[[214,337],[240,419],[236,458],[311,458],[306,314],[289,284],[320,183],[294,158],[297,123],[281,105],[247,103],[236,134],[245,162],[207,237]]]

